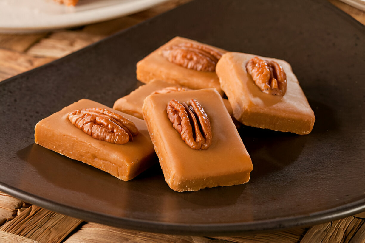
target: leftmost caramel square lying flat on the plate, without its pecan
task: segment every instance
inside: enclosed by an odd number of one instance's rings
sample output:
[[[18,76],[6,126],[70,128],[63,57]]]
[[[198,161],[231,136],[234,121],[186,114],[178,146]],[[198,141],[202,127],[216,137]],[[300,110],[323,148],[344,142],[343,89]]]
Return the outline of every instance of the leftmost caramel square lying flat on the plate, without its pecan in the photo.
[[[101,141],[73,125],[68,114],[74,110],[100,107],[114,111],[132,121],[138,128],[133,141],[113,144]],[[95,101],[81,99],[41,120],[35,126],[35,143],[82,161],[124,181],[131,180],[155,161],[154,148],[143,120],[123,114]]]

